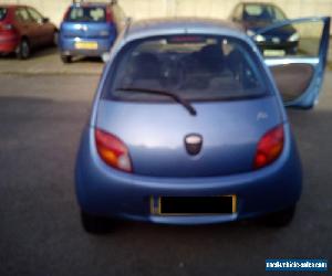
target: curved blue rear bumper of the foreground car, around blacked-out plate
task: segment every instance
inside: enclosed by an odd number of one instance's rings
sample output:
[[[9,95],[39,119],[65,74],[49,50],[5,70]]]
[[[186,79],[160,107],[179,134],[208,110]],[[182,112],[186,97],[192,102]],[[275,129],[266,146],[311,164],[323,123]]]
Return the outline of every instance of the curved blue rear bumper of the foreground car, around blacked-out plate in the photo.
[[[287,129],[290,135],[289,127]],[[86,129],[77,155],[75,179],[80,206],[87,213],[155,223],[206,224],[259,216],[295,204],[301,194],[302,172],[295,145],[289,139],[273,164],[255,172],[177,179],[133,176],[103,163],[95,151],[93,130]],[[227,194],[237,195],[234,214],[159,216],[151,213],[151,197]]]

